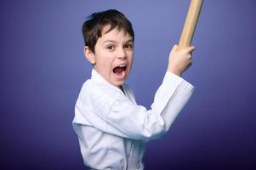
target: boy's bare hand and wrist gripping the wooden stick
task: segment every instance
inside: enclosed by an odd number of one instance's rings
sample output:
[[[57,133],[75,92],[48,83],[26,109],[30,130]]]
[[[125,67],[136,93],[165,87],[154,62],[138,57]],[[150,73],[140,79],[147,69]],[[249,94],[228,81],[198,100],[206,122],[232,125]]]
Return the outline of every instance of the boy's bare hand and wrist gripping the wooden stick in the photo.
[[[194,50],[194,46],[178,49],[178,45],[174,45],[171,53],[169,54],[168,71],[180,77],[182,72],[191,66],[191,52]]]

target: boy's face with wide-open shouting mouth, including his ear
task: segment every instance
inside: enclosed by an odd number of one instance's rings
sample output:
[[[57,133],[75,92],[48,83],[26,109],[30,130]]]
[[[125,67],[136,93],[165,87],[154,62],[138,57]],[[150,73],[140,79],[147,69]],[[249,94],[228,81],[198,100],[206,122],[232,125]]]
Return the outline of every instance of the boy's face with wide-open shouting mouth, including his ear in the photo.
[[[88,47],[84,53],[96,71],[112,85],[120,86],[128,78],[134,59],[133,38],[117,28],[105,33],[110,26],[105,26],[102,36],[95,44],[94,53]]]

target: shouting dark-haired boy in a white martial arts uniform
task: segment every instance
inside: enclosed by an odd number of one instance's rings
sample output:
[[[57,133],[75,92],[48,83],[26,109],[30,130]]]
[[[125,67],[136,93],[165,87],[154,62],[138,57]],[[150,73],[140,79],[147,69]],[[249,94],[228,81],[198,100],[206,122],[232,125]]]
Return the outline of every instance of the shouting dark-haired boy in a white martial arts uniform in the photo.
[[[145,142],[166,133],[194,87],[181,73],[191,65],[194,47],[169,54],[168,71],[151,110],[137,105],[126,84],[134,57],[134,30],[117,10],[90,15],[83,23],[84,54],[94,65],[82,85],[73,127],[86,166],[93,169],[144,169]]]

